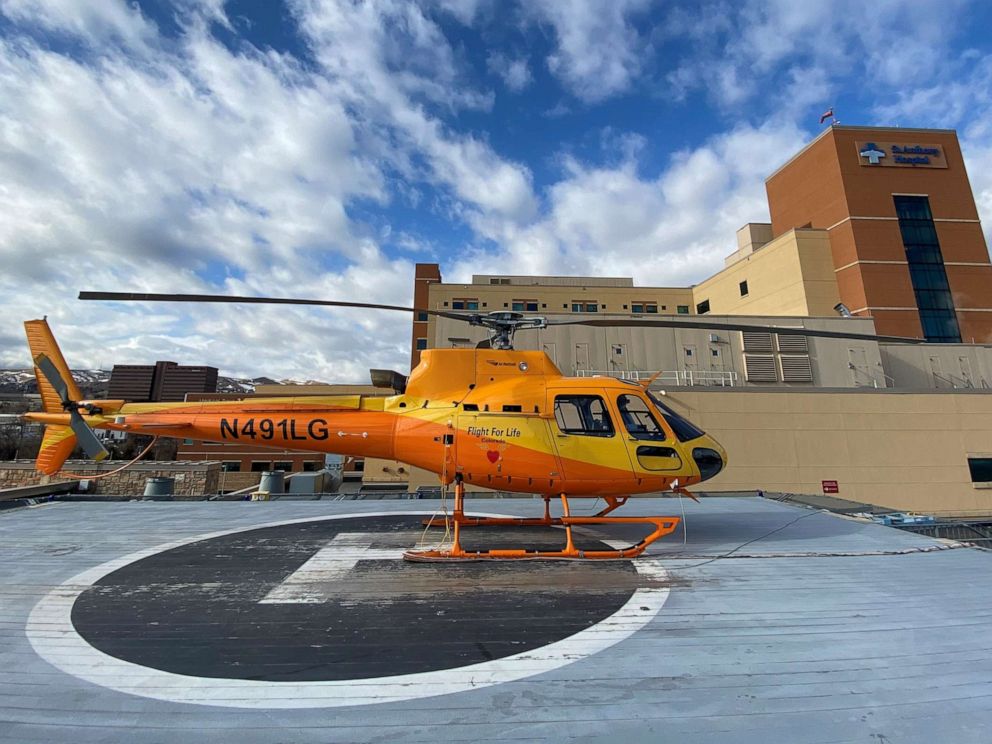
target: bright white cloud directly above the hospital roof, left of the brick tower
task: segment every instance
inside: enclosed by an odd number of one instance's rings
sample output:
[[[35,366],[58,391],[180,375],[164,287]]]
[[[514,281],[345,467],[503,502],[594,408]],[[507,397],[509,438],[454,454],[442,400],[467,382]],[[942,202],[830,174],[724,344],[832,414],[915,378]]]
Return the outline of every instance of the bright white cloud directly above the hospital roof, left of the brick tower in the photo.
[[[734,233],[767,220],[764,178],[807,135],[789,122],[742,126],[676,153],[656,177],[631,157],[615,167],[567,160],[548,193],[547,215],[520,228],[496,220],[476,228],[504,246],[477,251],[446,278],[473,273],[634,276],[642,285],[684,286],[722,266]]]

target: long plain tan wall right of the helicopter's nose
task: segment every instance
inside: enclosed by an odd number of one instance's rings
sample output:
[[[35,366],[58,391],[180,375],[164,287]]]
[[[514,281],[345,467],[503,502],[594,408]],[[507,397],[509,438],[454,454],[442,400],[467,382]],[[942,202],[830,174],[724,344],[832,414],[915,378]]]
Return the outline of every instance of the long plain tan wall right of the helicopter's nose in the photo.
[[[822,492],[945,516],[992,515],[968,457],[992,456],[984,392],[671,392],[666,398],[730,459],[707,491]]]

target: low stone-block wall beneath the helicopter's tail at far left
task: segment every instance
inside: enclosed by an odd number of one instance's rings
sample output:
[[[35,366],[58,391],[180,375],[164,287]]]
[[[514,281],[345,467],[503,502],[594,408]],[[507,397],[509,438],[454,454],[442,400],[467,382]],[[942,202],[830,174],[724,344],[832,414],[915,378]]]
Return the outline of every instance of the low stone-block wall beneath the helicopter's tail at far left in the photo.
[[[124,461],[115,460],[104,460],[99,463],[88,460],[69,460],[65,464],[65,471],[78,473],[81,476],[93,476],[116,470],[124,464]],[[145,481],[148,478],[175,478],[176,498],[197,498],[218,492],[220,463],[139,462],[123,472],[89,481],[89,488],[86,492],[104,496],[140,496],[145,492]],[[14,488],[69,479],[69,476],[50,477],[42,475],[34,469],[33,460],[0,462],[0,488]],[[75,478],[71,479],[75,480]]]

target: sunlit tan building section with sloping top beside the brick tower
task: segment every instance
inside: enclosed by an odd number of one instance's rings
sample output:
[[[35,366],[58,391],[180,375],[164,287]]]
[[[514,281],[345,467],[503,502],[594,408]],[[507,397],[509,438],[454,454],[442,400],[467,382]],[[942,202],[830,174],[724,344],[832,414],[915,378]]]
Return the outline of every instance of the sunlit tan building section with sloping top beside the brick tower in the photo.
[[[836,314],[840,295],[826,230],[789,230],[751,248],[693,288],[697,308],[708,301],[710,312],[720,315]]]

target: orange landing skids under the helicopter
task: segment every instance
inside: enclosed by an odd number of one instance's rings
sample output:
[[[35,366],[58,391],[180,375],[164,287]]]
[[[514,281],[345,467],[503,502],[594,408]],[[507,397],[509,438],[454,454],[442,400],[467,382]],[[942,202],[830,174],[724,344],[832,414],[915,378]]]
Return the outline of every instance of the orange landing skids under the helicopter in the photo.
[[[568,497],[561,495],[562,516],[551,516],[551,499],[544,499],[543,517],[469,517],[465,515],[465,484],[455,483],[455,508],[451,515],[452,543],[444,550],[408,550],[403,558],[408,561],[443,563],[448,561],[486,560],[627,560],[636,558],[648,545],[675,531],[681,521],[678,517],[608,517],[614,509],[627,503],[626,496],[606,496],[606,508],[593,516],[573,517],[568,508]],[[425,520],[425,524],[430,520]],[[443,522],[441,522],[443,524]],[[654,531],[640,542],[627,548],[614,550],[580,550],[575,547],[572,527],[592,524],[650,524]],[[564,527],[565,547],[562,550],[496,549],[465,550],[461,545],[463,527]]]

